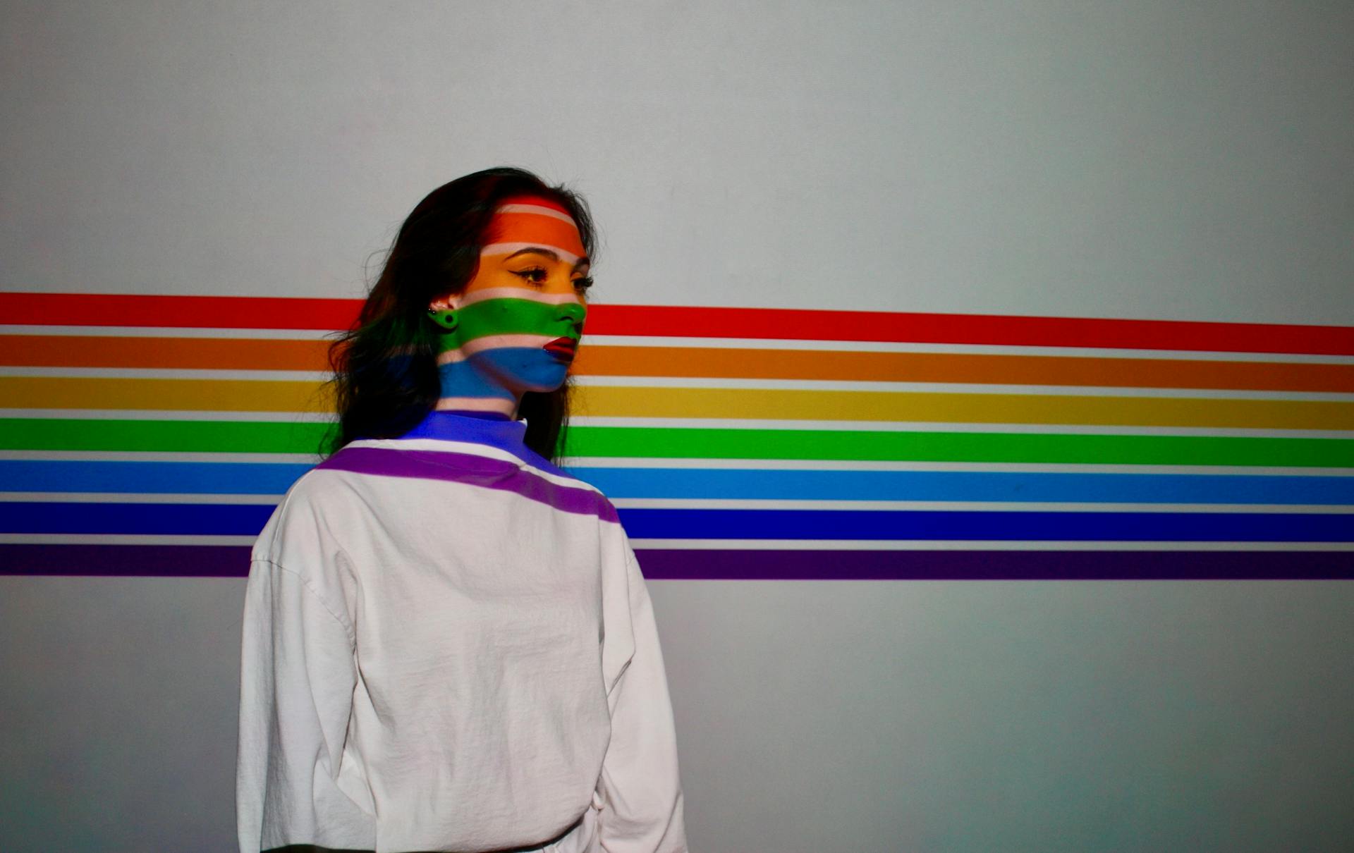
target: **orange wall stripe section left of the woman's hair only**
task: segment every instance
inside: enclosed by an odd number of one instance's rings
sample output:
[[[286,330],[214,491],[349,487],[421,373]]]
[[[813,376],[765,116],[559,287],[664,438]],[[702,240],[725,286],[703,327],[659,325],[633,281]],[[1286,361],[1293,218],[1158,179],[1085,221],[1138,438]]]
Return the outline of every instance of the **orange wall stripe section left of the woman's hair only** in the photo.
[[[328,370],[329,341],[3,334],[0,364],[185,370]]]

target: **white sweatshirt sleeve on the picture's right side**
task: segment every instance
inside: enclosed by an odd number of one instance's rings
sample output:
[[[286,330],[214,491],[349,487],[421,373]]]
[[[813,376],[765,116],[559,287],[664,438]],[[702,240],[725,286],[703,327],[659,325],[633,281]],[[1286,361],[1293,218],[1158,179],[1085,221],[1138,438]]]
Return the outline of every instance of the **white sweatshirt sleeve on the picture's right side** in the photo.
[[[681,853],[686,831],[668,677],[639,562],[623,544],[623,581],[604,605],[611,745],[594,799],[598,837],[608,853]]]

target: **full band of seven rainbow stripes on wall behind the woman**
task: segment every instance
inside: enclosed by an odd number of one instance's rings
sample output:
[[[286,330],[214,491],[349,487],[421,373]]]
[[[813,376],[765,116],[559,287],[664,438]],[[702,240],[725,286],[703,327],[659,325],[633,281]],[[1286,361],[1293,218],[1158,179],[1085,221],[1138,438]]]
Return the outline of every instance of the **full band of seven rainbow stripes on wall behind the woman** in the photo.
[[[356,310],[0,294],[0,571],[244,575]],[[573,370],[651,578],[1354,577],[1350,328],[594,305]]]

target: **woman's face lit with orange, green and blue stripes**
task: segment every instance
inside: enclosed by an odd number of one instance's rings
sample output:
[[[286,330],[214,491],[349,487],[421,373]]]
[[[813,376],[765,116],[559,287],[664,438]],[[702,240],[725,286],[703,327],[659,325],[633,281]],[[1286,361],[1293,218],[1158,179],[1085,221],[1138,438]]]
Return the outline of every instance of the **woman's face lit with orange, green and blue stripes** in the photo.
[[[505,199],[479,268],[459,294],[429,303],[443,326],[443,397],[552,391],[582,337],[588,257],[578,226],[555,202]],[[506,394],[505,394],[506,393]]]

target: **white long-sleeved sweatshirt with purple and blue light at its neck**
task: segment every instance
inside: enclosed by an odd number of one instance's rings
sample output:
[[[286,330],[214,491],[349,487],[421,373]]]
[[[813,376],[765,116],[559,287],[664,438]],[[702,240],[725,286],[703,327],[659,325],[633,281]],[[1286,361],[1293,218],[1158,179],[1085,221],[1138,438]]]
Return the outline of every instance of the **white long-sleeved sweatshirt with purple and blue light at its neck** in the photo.
[[[639,563],[525,428],[435,412],[287,491],[245,594],[241,850],[686,849]]]

